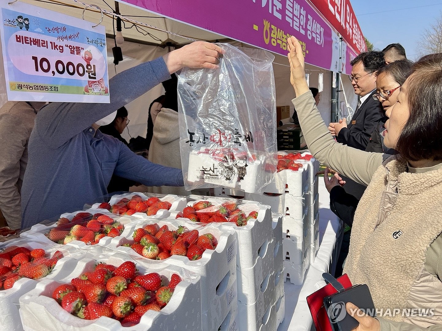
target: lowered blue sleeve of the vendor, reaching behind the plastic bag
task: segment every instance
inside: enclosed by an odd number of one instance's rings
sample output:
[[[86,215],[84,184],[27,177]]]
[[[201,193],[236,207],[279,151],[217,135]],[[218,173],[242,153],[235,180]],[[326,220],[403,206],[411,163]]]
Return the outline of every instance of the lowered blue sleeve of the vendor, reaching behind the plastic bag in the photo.
[[[152,163],[121,143],[114,174],[146,186],[184,186],[181,169]]]

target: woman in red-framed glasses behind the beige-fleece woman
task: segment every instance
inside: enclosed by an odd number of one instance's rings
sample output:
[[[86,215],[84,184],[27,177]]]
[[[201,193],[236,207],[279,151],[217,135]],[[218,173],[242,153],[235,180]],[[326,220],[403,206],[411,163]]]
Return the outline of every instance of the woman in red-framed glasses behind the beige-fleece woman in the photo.
[[[394,105],[397,101],[399,88],[404,84],[405,79],[410,75],[413,63],[409,60],[399,60],[392,62],[385,67],[379,69],[376,73],[376,90],[373,94],[374,100],[379,100],[384,110],[384,115],[387,109]],[[367,144],[367,152],[377,152],[385,154],[395,154],[395,150],[385,147],[384,136],[382,133],[385,130],[384,124],[388,117],[384,116],[370,137]]]

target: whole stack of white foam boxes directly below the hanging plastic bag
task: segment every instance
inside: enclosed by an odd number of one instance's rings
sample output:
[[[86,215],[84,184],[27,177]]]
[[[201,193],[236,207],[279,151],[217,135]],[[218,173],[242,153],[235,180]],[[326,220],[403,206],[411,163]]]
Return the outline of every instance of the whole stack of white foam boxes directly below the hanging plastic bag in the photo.
[[[189,196],[189,199],[208,200],[213,204],[232,201],[229,198]],[[194,202],[190,202],[192,205]],[[257,219],[250,219],[246,226],[221,223],[223,231],[233,230],[237,239],[236,273],[238,282],[238,330],[275,330],[275,247],[280,248],[279,222],[273,225],[271,208],[251,201],[236,200],[243,211],[258,211]],[[278,229],[279,228],[279,229]],[[278,255],[278,250],[276,251]]]

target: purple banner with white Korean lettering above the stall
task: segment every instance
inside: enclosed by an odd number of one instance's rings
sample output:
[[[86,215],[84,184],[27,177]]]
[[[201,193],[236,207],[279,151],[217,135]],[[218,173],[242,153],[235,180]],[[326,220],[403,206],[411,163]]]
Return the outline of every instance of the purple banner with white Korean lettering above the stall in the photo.
[[[121,1],[284,56],[294,35],[305,62],[337,71],[337,35],[307,0]]]

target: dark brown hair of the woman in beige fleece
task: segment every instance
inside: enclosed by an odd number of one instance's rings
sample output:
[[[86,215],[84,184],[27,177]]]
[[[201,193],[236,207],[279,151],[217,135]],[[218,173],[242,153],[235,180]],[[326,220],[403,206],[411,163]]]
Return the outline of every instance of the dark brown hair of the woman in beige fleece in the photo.
[[[442,53],[413,65],[406,90],[410,115],[395,149],[407,161],[442,160]]]

